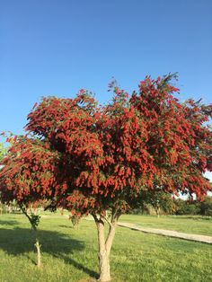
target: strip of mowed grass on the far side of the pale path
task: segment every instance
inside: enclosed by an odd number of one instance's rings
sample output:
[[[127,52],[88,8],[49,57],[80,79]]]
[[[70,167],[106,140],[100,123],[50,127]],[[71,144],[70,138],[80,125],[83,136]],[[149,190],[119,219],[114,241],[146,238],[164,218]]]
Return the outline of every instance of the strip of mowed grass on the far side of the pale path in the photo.
[[[203,216],[139,216],[123,215],[119,221],[143,227],[168,229],[188,234],[212,236],[212,218]]]

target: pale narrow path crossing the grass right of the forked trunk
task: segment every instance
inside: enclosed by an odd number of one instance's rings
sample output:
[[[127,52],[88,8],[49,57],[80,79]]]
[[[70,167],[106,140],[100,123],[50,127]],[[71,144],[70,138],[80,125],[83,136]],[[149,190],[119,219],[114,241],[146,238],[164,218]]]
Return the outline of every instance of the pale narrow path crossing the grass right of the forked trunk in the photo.
[[[141,227],[141,226],[138,226],[138,225],[128,224],[128,223],[125,223],[125,222],[119,222],[118,225],[121,226],[121,227],[127,227],[127,228],[130,228],[132,230],[137,230],[137,231],[150,233],[150,234],[160,234],[160,235],[163,235],[163,236],[180,238],[180,239],[185,239],[185,240],[190,240],[190,241],[212,243],[212,237],[211,236],[198,235],[198,234],[185,234],[185,233],[172,231],[172,230],[163,230],[163,229]]]

